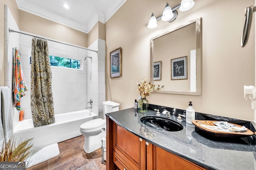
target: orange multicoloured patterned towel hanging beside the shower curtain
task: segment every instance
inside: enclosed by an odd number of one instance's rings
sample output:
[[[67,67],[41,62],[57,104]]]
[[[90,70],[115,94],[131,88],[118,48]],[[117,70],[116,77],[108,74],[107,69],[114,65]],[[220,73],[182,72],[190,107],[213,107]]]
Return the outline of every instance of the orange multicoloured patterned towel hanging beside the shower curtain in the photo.
[[[19,50],[15,48],[14,53],[14,71],[13,71],[13,92],[14,92],[14,106],[17,110],[20,110],[20,101],[23,96],[26,95],[28,90],[24,79],[22,66],[20,63]]]

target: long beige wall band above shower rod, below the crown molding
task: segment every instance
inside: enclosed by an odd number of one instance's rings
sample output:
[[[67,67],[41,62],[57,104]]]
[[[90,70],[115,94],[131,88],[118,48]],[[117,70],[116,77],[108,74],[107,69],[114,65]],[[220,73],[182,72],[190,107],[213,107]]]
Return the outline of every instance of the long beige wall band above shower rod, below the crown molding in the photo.
[[[47,26],[46,26],[47,25]],[[21,31],[56,39],[82,47],[88,47],[87,33],[67,27],[60,23],[19,10],[19,28]]]

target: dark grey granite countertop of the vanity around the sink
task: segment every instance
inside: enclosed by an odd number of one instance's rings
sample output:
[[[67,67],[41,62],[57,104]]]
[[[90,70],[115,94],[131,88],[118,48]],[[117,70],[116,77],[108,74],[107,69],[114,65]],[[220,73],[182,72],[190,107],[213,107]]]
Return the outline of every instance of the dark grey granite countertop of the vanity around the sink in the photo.
[[[194,125],[186,123],[186,119],[183,118],[183,121],[179,122],[184,127],[181,131],[162,131],[148,127],[140,121],[141,117],[148,115],[156,115],[156,112],[135,114],[134,108],[129,108],[106,114],[134,135],[204,168],[214,170],[254,170],[256,168],[255,135],[243,138],[213,137]],[[204,115],[197,113],[196,119],[200,116]],[[160,117],[165,115],[161,114]],[[172,115],[170,119],[176,121],[177,117]],[[251,129],[248,126],[250,125],[246,125]]]

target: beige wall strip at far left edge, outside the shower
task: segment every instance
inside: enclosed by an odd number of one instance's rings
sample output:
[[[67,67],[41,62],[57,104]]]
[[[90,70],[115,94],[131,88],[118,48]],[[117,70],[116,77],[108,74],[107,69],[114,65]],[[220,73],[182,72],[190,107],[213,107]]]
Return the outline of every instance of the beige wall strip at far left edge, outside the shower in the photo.
[[[0,86],[5,86],[4,74],[4,5],[8,5],[12,15],[19,23],[19,10],[15,0],[1,0],[0,1]]]

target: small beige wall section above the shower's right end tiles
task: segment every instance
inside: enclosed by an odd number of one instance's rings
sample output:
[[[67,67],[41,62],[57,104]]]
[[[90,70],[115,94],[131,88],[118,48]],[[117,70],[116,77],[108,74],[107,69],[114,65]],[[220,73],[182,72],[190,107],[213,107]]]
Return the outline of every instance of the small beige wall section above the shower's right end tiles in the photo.
[[[105,40],[105,25],[100,21],[88,33],[88,44],[91,45],[98,38]]]

